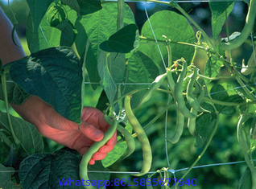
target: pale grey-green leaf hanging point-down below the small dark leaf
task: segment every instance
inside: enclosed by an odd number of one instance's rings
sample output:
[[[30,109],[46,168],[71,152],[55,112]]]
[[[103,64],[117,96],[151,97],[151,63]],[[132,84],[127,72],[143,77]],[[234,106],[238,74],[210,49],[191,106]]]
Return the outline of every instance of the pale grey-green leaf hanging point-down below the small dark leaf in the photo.
[[[121,82],[124,76],[126,68],[125,54],[101,51],[97,65],[101,77],[101,86],[111,104],[118,97],[117,83]]]

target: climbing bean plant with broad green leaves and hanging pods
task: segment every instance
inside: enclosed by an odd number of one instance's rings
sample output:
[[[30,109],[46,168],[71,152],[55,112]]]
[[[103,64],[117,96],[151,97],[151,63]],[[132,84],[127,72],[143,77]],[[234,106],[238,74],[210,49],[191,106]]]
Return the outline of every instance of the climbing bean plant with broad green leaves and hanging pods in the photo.
[[[163,122],[163,125],[175,131],[163,140],[178,146],[184,130],[188,129],[191,138],[196,139],[195,147],[201,149],[195,162],[178,179],[186,179],[208,149],[217,132],[220,115],[240,113],[237,142],[247,168],[237,187],[256,189],[253,161],[256,146],[256,0],[244,1],[249,6],[246,23],[241,32],[233,34],[227,27],[227,18],[234,1],[209,1],[211,38],[178,2],[146,2],[164,4],[172,9],[156,12],[138,31],[134,14],[124,0],[27,0],[30,12],[26,35],[31,55],[1,66],[0,98],[6,103],[6,113],[0,112],[0,187],[62,188],[58,179],[70,178],[76,181],[76,188],[84,188],[81,179],[107,180],[106,167],[133,156],[134,140],[142,145],[143,162],[142,170],[132,175],[147,175],[150,179],[157,174],[161,187],[154,188],[179,187],[179,182],[167,184],[172,178],[171,167],[151,170],[154,156],[144,131],[154,127],[154,122],[172,108],[176,111],[175,117],[171,115],[176,124]],[[224,24],[227,37],[221,39]],[[244,43],[253,49],[250,60],[234,62],[233,50]],[[196,64],[199,51],[208,56],[204,68]],[[221,80],[224,82],[218,82]],[[97,109],[105,113],[111,129],[83,157],[67,148],[52,154],[43,153],[43,140],[35,126],[11,116],[8,103],[21,105],[35,95],[52,105],[62,117],[79,125],[85,81],[92,84],[93,89],[96,89],[93,83],[101,84],[103,90]],[[137,120],[133,110],[151,101],[155,92],[167,94],[167,105],[145,125]],[[118,143],[114,150],[101,162],[89,166],[92,154],[111,138],[116,128]],[[148,174],[148,171],[155,173]],[[85,188],[104,188],[92,184]]]

